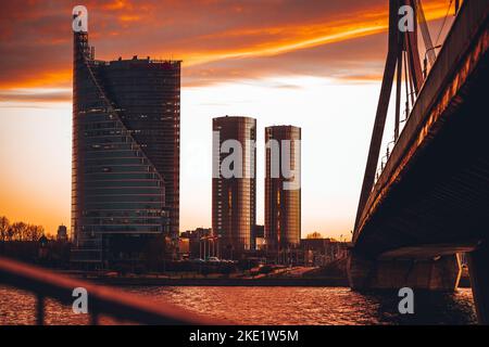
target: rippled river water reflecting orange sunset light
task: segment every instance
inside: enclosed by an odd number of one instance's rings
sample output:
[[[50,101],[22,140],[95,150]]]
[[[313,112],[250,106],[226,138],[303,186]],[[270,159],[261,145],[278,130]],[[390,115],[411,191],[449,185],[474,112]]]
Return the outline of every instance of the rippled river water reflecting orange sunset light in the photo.
[[[415,293],[414,314],[400,314],[397,293],[359,294],[347,287],[124,287],[158,305],[168,300],[190,311],[237,324],[474,324],[471,290]],[[0,324],[34,324],[35,298],[0,286]],[[86,324],[86,314],[47,300],[48,324]],[[114,321],[103,318],[103,323]]]

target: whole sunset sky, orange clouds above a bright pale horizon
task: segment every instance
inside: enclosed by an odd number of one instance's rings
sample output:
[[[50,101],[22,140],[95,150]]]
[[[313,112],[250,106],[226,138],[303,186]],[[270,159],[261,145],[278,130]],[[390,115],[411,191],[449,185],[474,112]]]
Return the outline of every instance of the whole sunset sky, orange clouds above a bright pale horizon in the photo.
[[[449,2],[423,1],[438,43],[453,21],[452,9],[440,30]],[[387,3],[2,2],[0,216],[49,233],[70,226],[71,13],[84,4],[97,59],[184,61],[181,231],[211,226],[212,117],[242,115],[258,119],[258,222],[264,127],[291,124],[302,127],[303,236],[350,237],[387,52]]]

